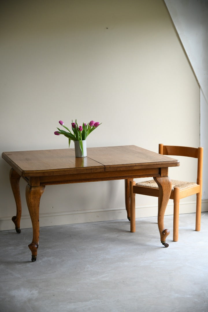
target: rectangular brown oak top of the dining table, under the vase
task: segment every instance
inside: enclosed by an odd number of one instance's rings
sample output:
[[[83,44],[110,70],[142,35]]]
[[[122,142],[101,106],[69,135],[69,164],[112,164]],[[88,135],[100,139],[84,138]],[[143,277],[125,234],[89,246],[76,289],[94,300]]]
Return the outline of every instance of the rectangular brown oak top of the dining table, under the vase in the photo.
[[[3,152],[2,158],[21,176],[37,177],[72,173],[175,167],[177,159],[135,145],[87,148],[87,157],[76,158],[74,149]]]

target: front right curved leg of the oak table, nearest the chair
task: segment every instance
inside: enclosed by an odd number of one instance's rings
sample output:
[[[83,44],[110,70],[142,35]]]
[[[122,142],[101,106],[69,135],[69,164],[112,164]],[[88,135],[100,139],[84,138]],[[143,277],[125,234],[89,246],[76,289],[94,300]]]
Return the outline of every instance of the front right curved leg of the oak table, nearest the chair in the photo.
[[[154,177],[155,182],[159,188],[159,202],[158,202],[158,229],[160,232],[160,240],[162,245],[168,247],[169,245],[165,242],[166,237],[170,234],[168,229],[164,229],[164,214],[167,207],[167,203],[170,198],[172,183],[169,177]]]

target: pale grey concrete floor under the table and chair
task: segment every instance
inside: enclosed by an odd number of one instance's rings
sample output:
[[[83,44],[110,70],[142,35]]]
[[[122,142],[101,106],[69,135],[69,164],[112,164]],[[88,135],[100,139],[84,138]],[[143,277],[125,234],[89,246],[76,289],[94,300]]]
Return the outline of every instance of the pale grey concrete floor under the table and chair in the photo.
[[[164,220],[168,248],[156,217],[42,227],[36,262],[32,229],[0,232],[0,311],[207,312],[208,212],[201,232],[180,215],[178,242]]]

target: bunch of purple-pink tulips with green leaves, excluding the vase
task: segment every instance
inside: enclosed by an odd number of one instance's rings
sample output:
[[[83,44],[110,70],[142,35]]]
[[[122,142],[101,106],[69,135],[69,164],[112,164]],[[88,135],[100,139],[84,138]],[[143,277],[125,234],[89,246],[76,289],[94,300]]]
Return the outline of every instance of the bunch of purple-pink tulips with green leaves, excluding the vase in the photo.
[[[93,120],[91,120],[88,124],[85,124],[83,122],[82,126],[78,126],[77,121],[75,120],[75,122],[71,123],[71,128],[72,131],[70,131],[70,129],[68,129],[62,120],[59,121],[60,125],[63,126],[66,130],[68,130],[68,132],[64,131],[64,130],[60,130],[59,128],[57,128],[59,131],[55,131],[54,134],[55,135],[60,135],[63,134],[65,137],[67,137],[69,139],[69,147],[70,147],[70,142],[71,140],[73,141],[79,141],[80,143],[80,149],[82,151],[83,154],[83,144],[82,141],[86,140],[87,136],[94,130],[96,129],[100,123],[99,122],[94,122]]]

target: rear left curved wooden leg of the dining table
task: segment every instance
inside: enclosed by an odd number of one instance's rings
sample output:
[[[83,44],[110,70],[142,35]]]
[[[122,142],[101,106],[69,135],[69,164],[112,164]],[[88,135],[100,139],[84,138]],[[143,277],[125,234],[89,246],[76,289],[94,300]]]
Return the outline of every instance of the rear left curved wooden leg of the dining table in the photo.
[[[15,229],[17,233],[21,233],[20,230],[20,219],[21,219],[21,214],[22,214],[22,205],[21,205],[21,198],[20,198],[20,175],[13,169],[11,168],[10,173],[9,173],[9,179],[10,179],[10,184],[12,187],[12,192],[14,194],[14,199],[16,202],[16,207],[17,207],[17,214],[16,216],[12,217],[12,221],[15,224]]]

